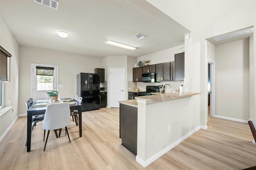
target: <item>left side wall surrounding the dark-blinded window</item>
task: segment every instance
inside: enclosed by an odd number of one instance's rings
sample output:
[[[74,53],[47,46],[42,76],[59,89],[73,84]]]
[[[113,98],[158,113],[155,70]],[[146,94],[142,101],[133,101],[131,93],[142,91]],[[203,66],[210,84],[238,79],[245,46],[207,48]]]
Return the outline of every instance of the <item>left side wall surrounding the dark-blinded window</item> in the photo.
[[[19,45],[12,33],[0,18],[0,44],[8,51],[10,58],[9,80],[4,82],[4,106],[13,106],[12,109],[0,116],[0,136],[10,127],[16,117],[19,115],[18,96],[19,96]]]

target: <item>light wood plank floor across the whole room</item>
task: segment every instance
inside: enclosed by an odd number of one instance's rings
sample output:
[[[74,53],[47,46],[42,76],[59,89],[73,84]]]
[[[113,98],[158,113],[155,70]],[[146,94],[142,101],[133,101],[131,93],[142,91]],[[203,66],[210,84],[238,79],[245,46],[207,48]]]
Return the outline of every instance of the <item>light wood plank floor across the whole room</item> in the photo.
[[[71,143],[62,131],[50,132],[46,151],[42,123],[32,131],[31,152],[26,152],[26,117],[20,117],[0,143],[1,170],[238,170],[256,166],[256,145],[249,125],[208,118],[208,129],[188,139],[143,168],[119,139],[119,109],[82,113],[82,137],[73,121]]]

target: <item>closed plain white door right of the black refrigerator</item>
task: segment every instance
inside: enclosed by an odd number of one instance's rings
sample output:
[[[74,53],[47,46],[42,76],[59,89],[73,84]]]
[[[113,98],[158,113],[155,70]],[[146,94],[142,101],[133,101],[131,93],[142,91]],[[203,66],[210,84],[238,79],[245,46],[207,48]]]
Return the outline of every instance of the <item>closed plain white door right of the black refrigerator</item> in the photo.
[[[110,107],[124,100],[125,68],[110,68]]]

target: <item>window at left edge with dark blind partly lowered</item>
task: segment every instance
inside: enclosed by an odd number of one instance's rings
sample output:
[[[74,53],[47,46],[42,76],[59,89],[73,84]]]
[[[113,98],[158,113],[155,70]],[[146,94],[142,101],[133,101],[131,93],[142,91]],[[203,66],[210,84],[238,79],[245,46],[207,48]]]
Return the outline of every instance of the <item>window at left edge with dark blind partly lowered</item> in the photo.
[[[3,81],[8,81],[8,57],[12,57],[12,55],[0,46],[0,107],[4,107]]]

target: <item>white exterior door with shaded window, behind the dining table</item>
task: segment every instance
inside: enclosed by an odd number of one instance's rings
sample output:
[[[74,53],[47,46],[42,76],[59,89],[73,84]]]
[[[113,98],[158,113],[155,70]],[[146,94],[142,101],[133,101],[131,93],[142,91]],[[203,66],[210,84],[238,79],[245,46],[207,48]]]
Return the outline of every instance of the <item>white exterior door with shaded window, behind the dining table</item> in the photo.
[[[45,100],[46,92],[58,90],[58,66],[31,64],[31,96],[33,100]]]

